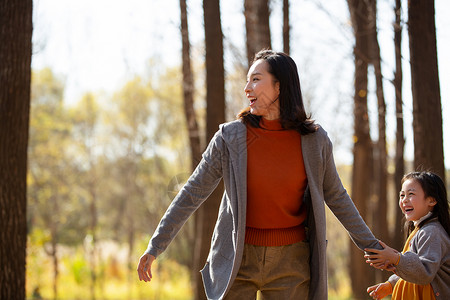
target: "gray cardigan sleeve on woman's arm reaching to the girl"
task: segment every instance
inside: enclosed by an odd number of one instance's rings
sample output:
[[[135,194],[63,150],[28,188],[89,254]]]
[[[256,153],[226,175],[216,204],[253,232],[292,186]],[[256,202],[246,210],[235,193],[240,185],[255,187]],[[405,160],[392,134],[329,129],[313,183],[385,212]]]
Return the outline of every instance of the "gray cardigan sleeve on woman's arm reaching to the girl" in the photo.
[[[383,249],[342,185],[334,163],[333,146],[328,136],[323,151],[325,160],[323,192],[328,207],[345,227],[358,248],[361,250],[364,248]]]

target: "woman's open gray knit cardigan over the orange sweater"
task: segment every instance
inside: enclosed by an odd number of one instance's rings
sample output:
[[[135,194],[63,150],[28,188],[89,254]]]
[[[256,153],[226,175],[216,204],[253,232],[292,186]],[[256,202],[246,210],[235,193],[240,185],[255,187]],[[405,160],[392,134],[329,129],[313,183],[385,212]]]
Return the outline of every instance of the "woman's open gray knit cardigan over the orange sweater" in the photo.
[[[380,248],[380,245],[339,179],[332,144],[322,128],[302,136],[302,153],[308,178],[304,201],[309,207],[309,294],[310,299],[322,300],[327,299],[325,203],[360,249]],[[146,253],[155,257],[161,254],[186,220],[216,188],[221,178],[224,180],[225,192],[212,236],[211,249],[206,265],[201,270],[208,299],[223,299],[237,275],[244,248],[247,128],[240,120],[220,126],[203,153],[201,162],[161,219],[146,250]]]

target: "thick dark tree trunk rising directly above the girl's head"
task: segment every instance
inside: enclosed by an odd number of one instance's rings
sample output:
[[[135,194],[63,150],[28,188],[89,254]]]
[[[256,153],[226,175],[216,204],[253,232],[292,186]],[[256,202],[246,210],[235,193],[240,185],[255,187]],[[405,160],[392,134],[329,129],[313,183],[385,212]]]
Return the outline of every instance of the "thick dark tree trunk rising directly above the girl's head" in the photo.
[[[445,181],[434,0],[408,1],[408,33],[414,167],[432,170]]]

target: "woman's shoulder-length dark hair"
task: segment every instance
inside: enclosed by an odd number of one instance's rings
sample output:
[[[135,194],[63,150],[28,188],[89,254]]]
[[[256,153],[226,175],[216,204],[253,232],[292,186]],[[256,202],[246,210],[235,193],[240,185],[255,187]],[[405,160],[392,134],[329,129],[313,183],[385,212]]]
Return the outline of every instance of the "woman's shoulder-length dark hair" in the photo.
[[[261,50],[256,53],[253,63],[261,59],[268,63],[269,73],[280,84],[280,122],[283,128],[296,130],[302,135],[315,132],[318,126],[306,115],[294,60],[285,53],[272,50]],[[252,127],[259,127],[261,120],[261,116],[250,113],[250,107],[242,110],[238,118]]]

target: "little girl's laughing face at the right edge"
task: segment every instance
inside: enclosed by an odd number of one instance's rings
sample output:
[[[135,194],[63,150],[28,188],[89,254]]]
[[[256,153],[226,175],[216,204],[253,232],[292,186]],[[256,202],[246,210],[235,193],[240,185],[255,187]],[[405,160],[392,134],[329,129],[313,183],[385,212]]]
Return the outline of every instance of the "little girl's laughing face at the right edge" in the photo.
[[[402,185],[399,205],[407,221],[417,221],[433,210],[436,200],[425,196],[417,180],[408,179]]]

